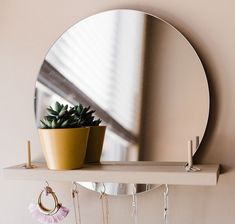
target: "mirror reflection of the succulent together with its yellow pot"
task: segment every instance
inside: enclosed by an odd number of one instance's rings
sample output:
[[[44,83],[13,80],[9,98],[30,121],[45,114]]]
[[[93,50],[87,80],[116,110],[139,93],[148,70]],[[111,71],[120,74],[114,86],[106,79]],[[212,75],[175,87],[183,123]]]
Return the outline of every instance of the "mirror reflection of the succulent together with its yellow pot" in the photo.
[[[82,126],[90,128],[85,163],[98,163],[102,153],[106,126],[100,126],[102,120],[95,119],[95,111],[90,107],[84,108],[80,104],[75,106],[74,110]]]

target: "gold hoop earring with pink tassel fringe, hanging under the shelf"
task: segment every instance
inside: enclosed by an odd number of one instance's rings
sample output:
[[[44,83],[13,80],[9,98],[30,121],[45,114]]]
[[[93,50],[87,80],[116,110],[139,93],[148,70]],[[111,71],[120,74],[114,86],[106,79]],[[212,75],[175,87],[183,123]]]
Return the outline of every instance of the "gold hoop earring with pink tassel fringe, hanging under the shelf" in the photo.
[[[69,213],[69,209],[62,206],[59,203],[58,198],[52,188],[49,186],[48,182],[47,186],[41,191],[38,196],[38,202],[31,203],[29,205],[29,212],[31,213],[32,217],[38,220],[40,223],[47,224],[47,223],[58,223],[62,221]],[[54,206],[52,209],[46,208],[46,206],[42,203],[43,196],[51,196],[54,202]]]

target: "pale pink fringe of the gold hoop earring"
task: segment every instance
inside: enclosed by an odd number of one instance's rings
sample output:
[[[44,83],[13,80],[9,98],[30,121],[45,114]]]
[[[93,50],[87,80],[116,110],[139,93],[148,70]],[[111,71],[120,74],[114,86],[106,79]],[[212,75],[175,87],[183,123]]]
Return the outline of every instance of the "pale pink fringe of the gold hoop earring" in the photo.
[[[29,212],[31,213],[32,217],[35,218],[40,223],[53,224],[62,221],[68,215],[69,209],[61,206],[55,214],[46,215],[39,210],[37,204],[31,203],[29,205]]]

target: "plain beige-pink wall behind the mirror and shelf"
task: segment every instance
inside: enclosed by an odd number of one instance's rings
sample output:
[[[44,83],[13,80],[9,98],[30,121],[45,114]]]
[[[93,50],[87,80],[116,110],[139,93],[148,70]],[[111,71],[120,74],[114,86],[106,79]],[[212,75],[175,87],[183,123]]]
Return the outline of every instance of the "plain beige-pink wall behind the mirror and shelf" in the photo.
[[[197,49],[210,82],[211,118],[196,159],[221,163],[224,170],[217,187],[171,187],[170,223],[234,222],[234,7],[235,2],[229,0],[1,0],[1,168],[24,161],[28,138],[33,142],[33,158],[42,157],[33,115],[34,83],[53,41],[66,28],[98,11],[143,10],[175,25]],[[36,199],[42,182],[5,181],[0,177],[0,183],[0,223],[36,223],[26,208]],[[71,207],[70,184],[51,184],[62,201]],[[138,197],[139,223],[162,223],[162,190]],[[98,195],[81,191],[83,223],[102,223]],[[130,197],[110,198],[109,205],[110,223],[133,223]],[[64,223],[74,223],[72,213]]]

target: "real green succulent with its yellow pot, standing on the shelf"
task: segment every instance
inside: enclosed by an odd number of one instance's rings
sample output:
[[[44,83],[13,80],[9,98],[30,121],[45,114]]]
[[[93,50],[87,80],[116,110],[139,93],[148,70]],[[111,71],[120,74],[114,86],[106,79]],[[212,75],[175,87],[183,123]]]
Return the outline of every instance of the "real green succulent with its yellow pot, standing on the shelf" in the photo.
[[[47,166],[53,170],[81,168],[86,155],[89,128],[83,127],[75,107],[55,103],[41,120],[39,137]],[[83,121],[84,122],[84,121]]]

